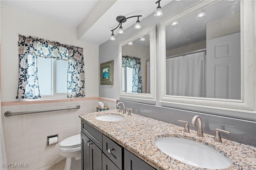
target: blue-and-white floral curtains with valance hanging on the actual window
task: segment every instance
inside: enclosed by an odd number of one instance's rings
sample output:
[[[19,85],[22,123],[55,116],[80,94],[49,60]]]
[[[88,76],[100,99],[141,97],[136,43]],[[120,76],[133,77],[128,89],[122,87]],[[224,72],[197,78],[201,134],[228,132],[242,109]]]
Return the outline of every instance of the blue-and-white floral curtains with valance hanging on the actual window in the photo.
[[[37,57],[68,60],[68,97],[83,97],[83,49],[48,40],[19,35],[19,83],[16,99],[40,98],[37,77]]]

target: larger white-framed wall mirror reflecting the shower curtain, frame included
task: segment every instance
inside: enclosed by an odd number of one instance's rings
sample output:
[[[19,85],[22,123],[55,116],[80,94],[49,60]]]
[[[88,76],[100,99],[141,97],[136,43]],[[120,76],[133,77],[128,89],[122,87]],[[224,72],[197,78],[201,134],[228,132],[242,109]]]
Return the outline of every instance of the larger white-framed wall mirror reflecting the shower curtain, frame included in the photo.
[[[248,44],[255,21],[246,18],[254,15],[252,6],[201,1],[160,22],[162,105],[256,120],[255,47]]]

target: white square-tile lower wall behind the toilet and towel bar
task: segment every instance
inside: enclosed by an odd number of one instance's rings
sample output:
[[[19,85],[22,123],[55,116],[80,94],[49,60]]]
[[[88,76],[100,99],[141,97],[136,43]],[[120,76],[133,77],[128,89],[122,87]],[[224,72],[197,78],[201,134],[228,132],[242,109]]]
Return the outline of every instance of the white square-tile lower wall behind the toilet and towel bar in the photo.
[[[80,105],[81,108],[70,111],[4,116],[6,111],[33,111],[76,105]],[[64,157],[59,154],[59,143],[69,136],[79,134],[81,120],[78,116],[95,112],[96,106],[98,106],[98,100],[3,106],[2,121],[8,163],[28,163],[28,168],[20,169],[37,170],[60,162]],[[53,134],[58,134],[59,143],[47,146],[47,136]]]

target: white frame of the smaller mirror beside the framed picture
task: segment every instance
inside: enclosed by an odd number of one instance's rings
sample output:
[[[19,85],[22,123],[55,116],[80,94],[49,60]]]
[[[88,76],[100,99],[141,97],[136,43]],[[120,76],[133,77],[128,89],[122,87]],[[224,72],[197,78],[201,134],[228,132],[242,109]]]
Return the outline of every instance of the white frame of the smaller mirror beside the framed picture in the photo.
[[[150,34],[150,94],[148,93],[126,93],[122,91],[122,46],[134,41],[141,36]],[[149,26],[133,36],[119,42],[118,45],[119,65],[119,98],[126,101],[154,104],[156,102],[156,26]]]

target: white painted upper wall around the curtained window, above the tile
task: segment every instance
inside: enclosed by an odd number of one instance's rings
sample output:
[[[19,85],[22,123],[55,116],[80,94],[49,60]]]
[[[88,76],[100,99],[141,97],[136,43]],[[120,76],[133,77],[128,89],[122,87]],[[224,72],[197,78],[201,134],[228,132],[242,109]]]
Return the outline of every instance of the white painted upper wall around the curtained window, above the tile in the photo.
[[[1,6],[2,102],[17,101],[18,34],[84,48],[86,97],[98,97],[98,45],[78,41],[76,28]]]

